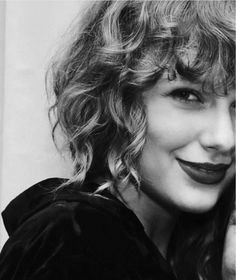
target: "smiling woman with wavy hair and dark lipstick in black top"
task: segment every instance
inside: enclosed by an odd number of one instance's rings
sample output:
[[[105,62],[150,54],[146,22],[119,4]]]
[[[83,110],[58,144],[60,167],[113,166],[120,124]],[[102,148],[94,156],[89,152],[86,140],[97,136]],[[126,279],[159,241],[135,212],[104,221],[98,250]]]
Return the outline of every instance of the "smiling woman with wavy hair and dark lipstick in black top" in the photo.
[[[234,277],[234,5],[91,4],[51,73],[74,176],[4,211],[1,280]]]

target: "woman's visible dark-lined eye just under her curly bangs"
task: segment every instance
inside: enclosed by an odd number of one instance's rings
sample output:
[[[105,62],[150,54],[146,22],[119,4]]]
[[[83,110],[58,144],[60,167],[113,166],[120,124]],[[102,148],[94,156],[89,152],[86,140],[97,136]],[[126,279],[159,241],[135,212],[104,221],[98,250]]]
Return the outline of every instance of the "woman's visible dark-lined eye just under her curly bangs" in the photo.
[[[168,94],[173,99],[183,103],[204,103],[200,92],[188,88],[179,88]]]

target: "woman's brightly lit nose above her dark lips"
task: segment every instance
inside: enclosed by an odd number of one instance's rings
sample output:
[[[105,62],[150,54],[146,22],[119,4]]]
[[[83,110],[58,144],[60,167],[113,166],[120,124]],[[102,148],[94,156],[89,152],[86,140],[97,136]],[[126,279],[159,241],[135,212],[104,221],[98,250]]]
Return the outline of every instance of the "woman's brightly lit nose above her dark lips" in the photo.
[[[222,108],[221,108],[222,109]],[[200,143],[204,149],[232,154],[235,149],[234,121],[228,110],[218,110],[204,120]]]

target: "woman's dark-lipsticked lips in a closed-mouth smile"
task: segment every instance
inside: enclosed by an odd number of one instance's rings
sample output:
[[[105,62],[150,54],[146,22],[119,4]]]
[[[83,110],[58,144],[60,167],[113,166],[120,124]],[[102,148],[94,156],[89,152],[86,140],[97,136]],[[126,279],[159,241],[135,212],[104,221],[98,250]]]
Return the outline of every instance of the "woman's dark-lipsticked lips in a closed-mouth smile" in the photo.
[[[182,170],[201,184],[217,184],[224,179],[230,164],[197,163],[177,158]]]

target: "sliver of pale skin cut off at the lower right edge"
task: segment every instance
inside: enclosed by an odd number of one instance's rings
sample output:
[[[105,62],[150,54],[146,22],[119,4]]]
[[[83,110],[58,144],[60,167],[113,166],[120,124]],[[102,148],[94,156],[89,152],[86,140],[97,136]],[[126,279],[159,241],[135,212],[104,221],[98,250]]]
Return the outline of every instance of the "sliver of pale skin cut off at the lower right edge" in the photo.
[[[229,225],[225,236],[222,275],[223,280],[235,280],[236,268],[236,210],[229,219]]]

